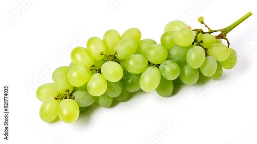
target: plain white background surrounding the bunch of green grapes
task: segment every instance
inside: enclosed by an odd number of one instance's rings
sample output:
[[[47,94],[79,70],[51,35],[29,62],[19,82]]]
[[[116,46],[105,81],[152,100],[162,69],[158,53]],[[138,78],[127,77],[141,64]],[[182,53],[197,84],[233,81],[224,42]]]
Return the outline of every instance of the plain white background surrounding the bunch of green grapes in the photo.
[[[0,143],[257,143],[257,13],[253,2],[1,1]],[[168,98],[138,92],[111,108],[89,110],[73,124],[40,119],[36,88],[51,82],[51,71],[67,66],[71,49],[85,47],[89,37],[102,38],[109,29],[122,34],[136,27],[142,39],[160,43],[164,26],[171,20],[205,29],[197,22],[204,16],[209,27],[221,29],[248,11],[253,15],[227,35],[238,62],[221,79],[182,85]],[[8,141],[3,135],[4,85],[9,86]]]

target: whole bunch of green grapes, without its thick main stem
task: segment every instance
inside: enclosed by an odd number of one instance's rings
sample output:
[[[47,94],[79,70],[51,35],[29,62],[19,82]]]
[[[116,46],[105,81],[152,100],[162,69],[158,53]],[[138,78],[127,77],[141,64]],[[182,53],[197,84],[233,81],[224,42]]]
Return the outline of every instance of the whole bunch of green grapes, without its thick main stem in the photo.
[[[202,24],[203,20],[198,18]],[[52,83],[36,90],[36,97],[43,102],[40,118],[51,122],[59,116],[71,123],[93,104],[107,108],[114,99],[124,102],[130,92],[140,89],[168,97],[174,85],[193,85],[200,75],[218,79],[223,68],[232,69],[237,61],[235,50],[221,38],[210,29],[192,30],[180,20],[165,26],[160,44],[141,39],[137,28],[122,35],[111,29],[102,39],[90,37],[85,47],[71,51],[69,66],[54,70]]]

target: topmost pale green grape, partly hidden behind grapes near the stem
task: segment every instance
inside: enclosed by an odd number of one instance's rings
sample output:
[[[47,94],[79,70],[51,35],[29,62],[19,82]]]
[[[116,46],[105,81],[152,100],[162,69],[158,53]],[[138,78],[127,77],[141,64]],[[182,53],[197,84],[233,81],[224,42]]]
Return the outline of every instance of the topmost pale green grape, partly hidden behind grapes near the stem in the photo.
[[[164,27],[164,32],[166,31],[178,31],[182,28],[188,28],[188,25],[181,20],[172,20]]]

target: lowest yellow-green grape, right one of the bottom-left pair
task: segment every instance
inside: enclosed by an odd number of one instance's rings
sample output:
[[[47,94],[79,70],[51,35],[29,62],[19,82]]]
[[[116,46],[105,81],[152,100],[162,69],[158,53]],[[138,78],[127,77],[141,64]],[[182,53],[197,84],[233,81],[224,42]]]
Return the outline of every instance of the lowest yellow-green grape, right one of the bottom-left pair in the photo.
[[[59,118],[66,124],[75,122],[79,118],[80,109],[73,99],[63,99],[58,109]]]

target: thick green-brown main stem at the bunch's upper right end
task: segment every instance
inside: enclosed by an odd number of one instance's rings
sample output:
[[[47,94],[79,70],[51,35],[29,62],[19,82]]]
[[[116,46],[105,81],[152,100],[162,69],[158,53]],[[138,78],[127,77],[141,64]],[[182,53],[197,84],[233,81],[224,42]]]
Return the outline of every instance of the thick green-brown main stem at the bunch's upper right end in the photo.
[[[219,35],[215,36],[217,39],[218,38],[222,38],[222,39],[225,39],[227,40],[227,43],[228,43],[228,47],[230,45],[229,43],[229,40],[228,38],[226,37],[227,34],[232,30],[234,29],[236,26],[238,26],[239,24],[241,24],[242,22],[244,22],[245,19],[247,19],[249,16],[251,16],[252,13],[251,12],[248,12],[246,13],[244,16],[242,16],[241,18],[239,18],[238,20],[236,20],[233,24],[229,25],[228,27],[226,28],[223,28],[223,29],[218,29],[218,30],[212,30],[210,29],[205,23],[204,21],[200,22],[201,24],[204,24],[207,28],[208,28],[208,32],[205,32],[203,31],[202,29],[194,29],[194,31],[198,31],[198,32],[201,32],[203,34],[206,34],[206,33],[213,33],[213,32],[221,32]],[[197,38],[196,38],[197,39]],[[198,42],[196,42],[197,44],[199,44]]]

